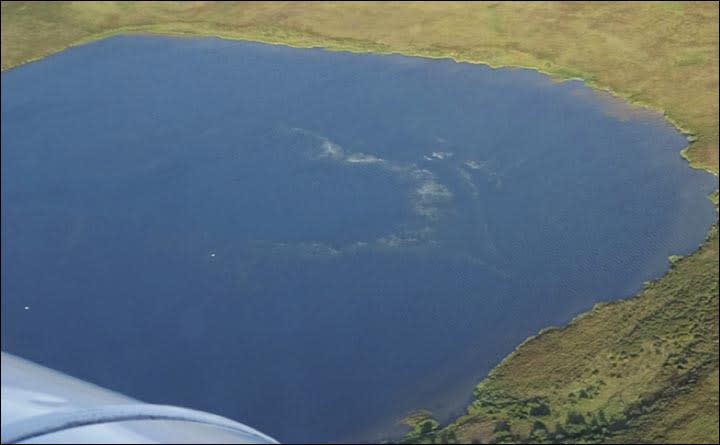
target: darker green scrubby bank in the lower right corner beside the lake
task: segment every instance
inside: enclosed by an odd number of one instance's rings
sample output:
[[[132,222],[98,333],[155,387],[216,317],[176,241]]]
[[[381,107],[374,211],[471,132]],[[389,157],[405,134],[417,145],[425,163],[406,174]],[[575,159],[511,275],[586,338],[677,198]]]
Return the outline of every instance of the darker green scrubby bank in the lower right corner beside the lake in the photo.
[[[467,415],[422,440],[716,441],[717,248],[716,227],[638,297],[526,341],[478,386]],[[571,413],[584,424],[568,422]],[[547,430],[533,433],[537,421]]]

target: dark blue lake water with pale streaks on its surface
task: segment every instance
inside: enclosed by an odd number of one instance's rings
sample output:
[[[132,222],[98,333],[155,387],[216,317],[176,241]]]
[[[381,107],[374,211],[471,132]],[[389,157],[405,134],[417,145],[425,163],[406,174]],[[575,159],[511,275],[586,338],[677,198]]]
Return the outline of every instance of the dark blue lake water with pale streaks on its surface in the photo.
[[[527,70],[73,48],[2,74],[2,348],[284,441],[372,440],[693,251],[716,180],[685,145]]]

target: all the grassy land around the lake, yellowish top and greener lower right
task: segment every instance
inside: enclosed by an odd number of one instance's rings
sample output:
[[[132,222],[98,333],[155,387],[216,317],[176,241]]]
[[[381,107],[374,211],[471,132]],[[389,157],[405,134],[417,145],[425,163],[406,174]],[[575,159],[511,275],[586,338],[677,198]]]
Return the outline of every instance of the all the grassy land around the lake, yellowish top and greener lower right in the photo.
[[[3,2],[2,68],[127,32],[534,68],[662,110],[691,135],[691,165],[717,174],[717,22],[714,2]],[[715,227],[638,297],[523,343],[466,416],[415,416],[408,440],[717,441],[717,259]]]

